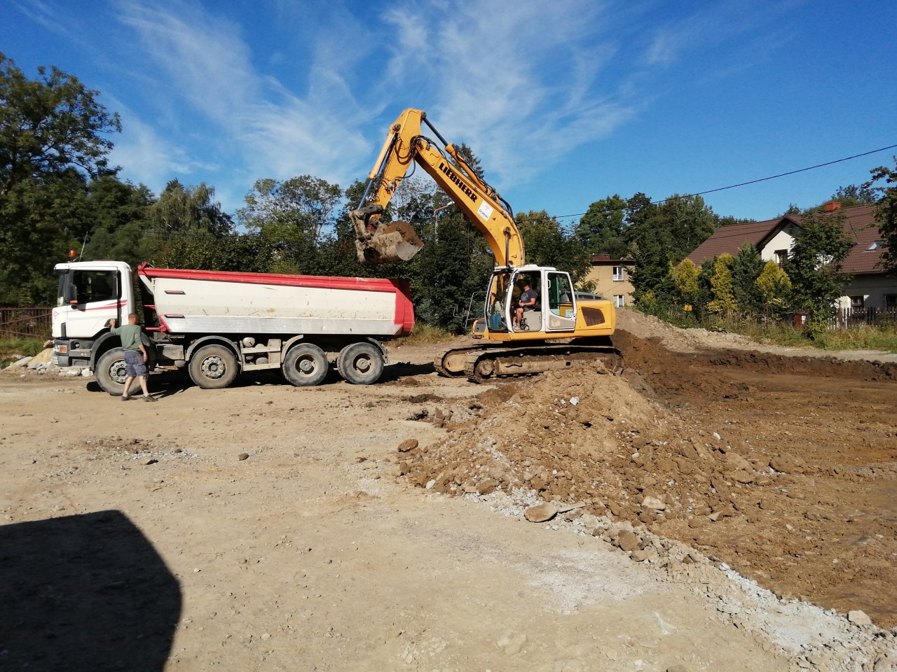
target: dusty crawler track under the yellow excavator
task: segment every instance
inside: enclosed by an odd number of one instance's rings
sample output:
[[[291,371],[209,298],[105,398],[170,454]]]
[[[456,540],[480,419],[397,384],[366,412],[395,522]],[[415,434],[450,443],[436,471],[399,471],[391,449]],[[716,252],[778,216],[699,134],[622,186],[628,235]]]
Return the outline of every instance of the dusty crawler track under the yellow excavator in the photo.
[[[449,349],[436,358],[437,373],[466,376],[474,383],[558,371],[600,359],[614,375],[623,373],[623,353],[606,342],[545,343],[527,346],[474,346]]]

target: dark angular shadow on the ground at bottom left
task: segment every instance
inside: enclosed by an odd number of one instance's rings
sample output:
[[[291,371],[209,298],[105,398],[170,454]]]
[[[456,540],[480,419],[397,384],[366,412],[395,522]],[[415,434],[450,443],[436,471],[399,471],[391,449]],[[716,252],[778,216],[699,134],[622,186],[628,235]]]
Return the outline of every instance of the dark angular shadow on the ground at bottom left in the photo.
[[[178,580],[118,511],[0,527],[0,669],[161,672]]]

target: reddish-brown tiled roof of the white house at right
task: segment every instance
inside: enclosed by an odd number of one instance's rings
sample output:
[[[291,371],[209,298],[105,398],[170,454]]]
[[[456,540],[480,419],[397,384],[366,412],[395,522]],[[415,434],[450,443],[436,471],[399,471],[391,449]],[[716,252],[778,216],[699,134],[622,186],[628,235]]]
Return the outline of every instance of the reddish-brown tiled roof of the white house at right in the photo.
[[[882,260],[882,248],[867,251],[868,247],[881,240],[881,233],[875,223],[874,209],[871,205],[854,205],[849,208],[840,208],[835,212],[845,215],[844,233],[855,245],[850,249],[841,268],[845,273],[857,275],[860,273],[881,273],[877,264]],[[747,224],[733,224],[720,227],[713,235],[701,243],[688,258],[692,262],[700,264],[705,259],[712,259],[719,254],[727,252],[735,256],[738,248],[745,243],[753,243],[759,246],[771,234],[783,228],[788,223],[800,226],[800,215],[784,215],[774,220],[754,221]]]

